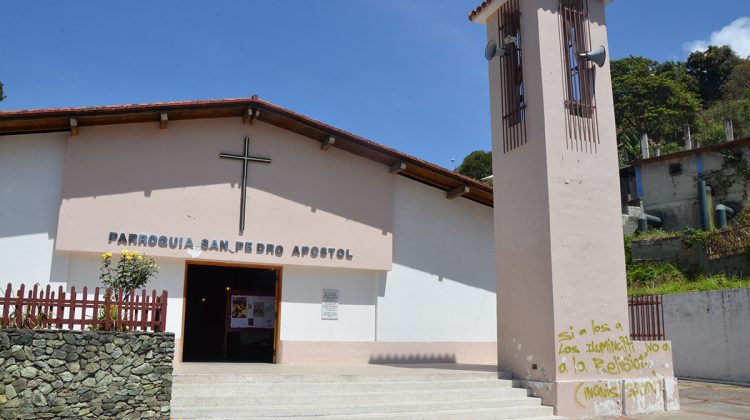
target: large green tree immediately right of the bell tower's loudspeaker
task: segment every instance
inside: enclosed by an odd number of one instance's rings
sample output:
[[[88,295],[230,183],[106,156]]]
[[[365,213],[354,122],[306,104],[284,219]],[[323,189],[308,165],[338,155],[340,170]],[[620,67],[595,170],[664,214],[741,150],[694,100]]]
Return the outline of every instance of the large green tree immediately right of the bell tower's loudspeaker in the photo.
[[[618,132],[660,143],[681,138],[701,109],[697,82],[681,63],[659,64],[644,57],[612,60],[612,90]]]

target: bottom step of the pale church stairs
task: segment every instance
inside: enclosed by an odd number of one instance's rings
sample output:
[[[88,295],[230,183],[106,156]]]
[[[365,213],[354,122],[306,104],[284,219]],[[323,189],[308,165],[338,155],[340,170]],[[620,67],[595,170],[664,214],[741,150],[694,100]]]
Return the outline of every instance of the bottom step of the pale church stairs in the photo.
[[[383,404],[321,404],[307,406],[254,406],[234,405],[217,407],[172,407],[176,419],[190,418],[256,418],[256,417],[308,417],[343,416],[354,414],[393,415],[405,413],[430,413],[431,418],[445,414],[441,411],[493,409],[492,418],[513,419],[550,416],[551,407],[540,405],[537,398],[498,398],[459,401],[390,402]]]

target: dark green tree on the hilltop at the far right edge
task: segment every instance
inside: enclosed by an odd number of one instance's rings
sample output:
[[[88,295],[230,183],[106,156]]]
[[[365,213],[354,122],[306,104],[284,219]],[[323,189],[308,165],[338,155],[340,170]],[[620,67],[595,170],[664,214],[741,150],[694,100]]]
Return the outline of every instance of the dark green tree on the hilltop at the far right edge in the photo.
[[[696,51],[688,56],[687,71],[698,81],[703,101],[710,104],[721,99],[732,69],[743,61],[731,47],[711,45],[706,51]]]

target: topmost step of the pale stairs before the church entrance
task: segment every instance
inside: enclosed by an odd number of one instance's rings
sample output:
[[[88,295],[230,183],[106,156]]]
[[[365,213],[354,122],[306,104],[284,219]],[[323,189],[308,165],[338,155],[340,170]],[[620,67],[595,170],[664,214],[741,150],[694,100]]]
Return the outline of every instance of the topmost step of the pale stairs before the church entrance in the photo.
[[[193,374],[175,373],[174,382],[186,383],[319,383],[319,382],[419,382],[419,381],[496,381],[505,377],[498,372],[404,372],[404,373],[365,373],[365,374]],[[504,379],[509,379],[505,377]]]

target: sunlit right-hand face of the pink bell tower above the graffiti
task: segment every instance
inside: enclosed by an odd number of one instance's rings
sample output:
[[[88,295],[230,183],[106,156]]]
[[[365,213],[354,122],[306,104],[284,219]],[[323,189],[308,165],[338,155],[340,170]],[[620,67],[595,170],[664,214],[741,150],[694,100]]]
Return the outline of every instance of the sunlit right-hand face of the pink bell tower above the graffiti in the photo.
[[[545,3],[557,3],[546,0]],[[607,44],[604,5],[601,0],[589,1],[590,36],[592,48]],[[539,13],[540,26],[547,28],[549,38],[559,39],[559,29],[553,25],[558,15],[549,10]],[[542,43],[541,56],[549,62],[547,68],[559,67],[561,48]],[[554,62],[552,62],[555,60]],[[545,131],[547,141],[547,168],[549,178],[550,235],[552,238],[552,264],[554,281],[555,330],[560,334],[578,328],[587,328],[588,336],[577,337],[573,342],[588,343],[610,338],[618,340],[630,334],[627,316],[627,285],[625,281],[625,255],[622,244],[620,212],[620,183],[617,160],[617,138],[612,103],[612,86],[609,59],[595,70],[596,112],[598,115],[599,143],[588,151],[576,150],[566,142],[564,112],[547,112]],[[545,72],[543,83],[546,106],[557,104],[562,111],[562,72]],[[558,87],[557,90],[551,87]],[[557,93],[557,95],[556,95]],[[610,330],[595,334],[595,325],[606,324]],[[622,329],[616,328],[622,325]],[[594,334],[592,334],[594,333]],[[564,354],[558,349],[557,364]],[[591,357],[586,354],[588,374],[570,371],[559,372],[565,379],[607,378],[597,372]],[[570,359],[570,357],[568,357]]]

